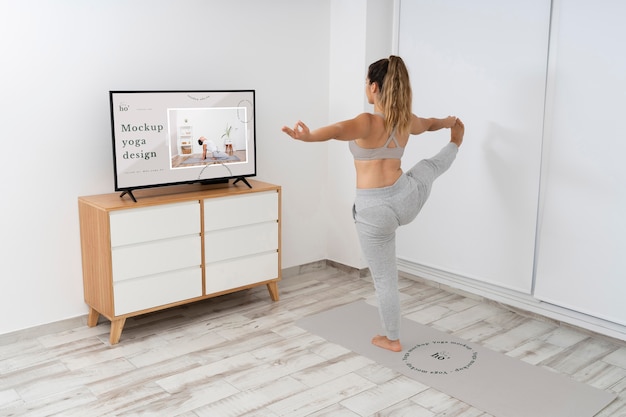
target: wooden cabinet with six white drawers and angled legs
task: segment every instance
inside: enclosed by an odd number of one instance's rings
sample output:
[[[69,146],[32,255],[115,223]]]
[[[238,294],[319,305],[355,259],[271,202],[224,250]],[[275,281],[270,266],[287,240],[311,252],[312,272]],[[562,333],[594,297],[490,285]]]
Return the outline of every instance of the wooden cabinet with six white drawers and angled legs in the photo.
[[[258,285],[278,300],[281,188],[248,181],[80,197],[88,325],[109,319],[115,344],[139,314]]]

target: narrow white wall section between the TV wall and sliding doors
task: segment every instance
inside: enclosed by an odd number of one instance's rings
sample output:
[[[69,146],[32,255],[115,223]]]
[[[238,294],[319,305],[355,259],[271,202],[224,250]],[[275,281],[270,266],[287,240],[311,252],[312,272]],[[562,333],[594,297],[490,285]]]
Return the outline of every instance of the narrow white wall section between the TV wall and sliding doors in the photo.
[[[365,96],[367,67],[391,53],[393,16],[389,0],[331,1],[330,121],[372,111]],[[327,172],[328,259],[365,268],[352,218],[356,175],[347,143],[328,142]]]

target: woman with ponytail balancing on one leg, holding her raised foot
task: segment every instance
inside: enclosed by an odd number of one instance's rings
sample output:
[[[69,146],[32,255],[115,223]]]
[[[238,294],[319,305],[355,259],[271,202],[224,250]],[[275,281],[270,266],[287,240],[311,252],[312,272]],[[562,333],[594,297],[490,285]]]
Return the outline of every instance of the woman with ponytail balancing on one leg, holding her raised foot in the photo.
[[[374,105],[374,114],[362,113],[313,131],[301,121],[293,129],[285,126],[282,130],[305,142],[350,141],[357,187],[353,216],[385,330],[372,343],[400,352],[396,229],[417,216],[433,181],[454,161],[465,128],[453,116],[424,119],[412,113],[409,74],[400,57],[392,55],[369,66],[366,94],[368,102]],[[404,174],[400,159],[409,135],[443,128],[452,129],[450,143],[436,156],[419,162]]]

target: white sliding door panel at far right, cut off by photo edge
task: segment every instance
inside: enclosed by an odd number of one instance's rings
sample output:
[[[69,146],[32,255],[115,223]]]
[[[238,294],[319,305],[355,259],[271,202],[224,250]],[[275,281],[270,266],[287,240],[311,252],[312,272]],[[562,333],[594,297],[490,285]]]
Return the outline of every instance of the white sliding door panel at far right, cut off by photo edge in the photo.
[[[556,1],[535,296],[626,325],[626,3]]]

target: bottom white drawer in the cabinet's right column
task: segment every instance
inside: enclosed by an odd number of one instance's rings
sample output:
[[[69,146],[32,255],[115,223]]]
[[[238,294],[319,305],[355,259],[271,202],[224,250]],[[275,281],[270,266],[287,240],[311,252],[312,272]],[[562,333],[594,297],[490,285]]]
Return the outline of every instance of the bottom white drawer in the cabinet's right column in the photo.
[[[207,294],[278,278],[278,252],[269,252],[205,266]]]

